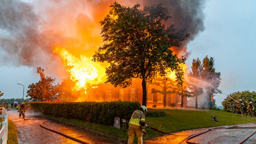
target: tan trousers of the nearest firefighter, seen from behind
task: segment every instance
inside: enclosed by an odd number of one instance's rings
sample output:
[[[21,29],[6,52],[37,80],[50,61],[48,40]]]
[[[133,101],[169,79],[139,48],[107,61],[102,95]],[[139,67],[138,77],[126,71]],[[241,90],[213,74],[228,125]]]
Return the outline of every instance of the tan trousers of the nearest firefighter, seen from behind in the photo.
[[[140,126],[133,125],[133,124],[129,124],[128,144],[133,144],[133,140],[134,140],[135,134],[136,134],[136,137],[138,139],[137,140],[138,144],[143,144],[143,137],[142,137],[143,132],[141,131]]]

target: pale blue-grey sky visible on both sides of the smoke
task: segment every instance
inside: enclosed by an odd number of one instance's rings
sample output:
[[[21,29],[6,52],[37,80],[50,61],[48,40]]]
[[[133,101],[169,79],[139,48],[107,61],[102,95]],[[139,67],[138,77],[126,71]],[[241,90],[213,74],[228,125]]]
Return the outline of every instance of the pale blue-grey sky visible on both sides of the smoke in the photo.
[[[202,7],[205,19],[203,32],[200,32],[187,45],[191,53],[187,57],[187,71],[190,71],[194,58],[203,59],[206,55],[215,59],[216,72],[221,73],[219,89],[230,94],[237,91],[254,91],[255,87],[255,33],[256,1],[215,0],[206,1]],[[1,34],[1,30],[0,30]],[[0,44],[1,46],[2,44]],[[4,51],[0,47],[0,56]],[[57,77],[57,73],[51,73]],[[45,70],[47,75],[47,69]],[[19,66],[5,63],[0,65],[0,91],[2,98],[22,98],[27,86],[40,80],[36,67]],[[61,79],[57,78],[57,82]],[[226,98],[225,94],[218,94]],[[223,99],[215,96],[216,104]]]

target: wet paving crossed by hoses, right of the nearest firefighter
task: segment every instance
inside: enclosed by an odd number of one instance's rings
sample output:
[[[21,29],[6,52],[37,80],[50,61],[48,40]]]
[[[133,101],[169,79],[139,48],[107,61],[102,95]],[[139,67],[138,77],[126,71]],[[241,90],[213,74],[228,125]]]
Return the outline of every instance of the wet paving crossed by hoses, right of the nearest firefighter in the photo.
[[[256,127],[255,124],[239,124],[237,126],[241,127]],[[225,126],[228,127],[228,126]],[[187,144],[186,138],[188,135],[202,132],[209,128],[201,128],[195,130],[187,130],[178,133],[176,135],[185,135],[185,136],[173,136],[173,135],[164,135],[161,137],[156,137],[151,140],[145,141],[145,144]],[[211,130],[204,134],[201,134],[195,138],[190,139],[190,142],[199,143],[199,144],[237,144],[248,135],[254,132],[255,129],[222,129],[222,130]],[[256,133],[252,135],[248,140],[243,144],[256,144]]]

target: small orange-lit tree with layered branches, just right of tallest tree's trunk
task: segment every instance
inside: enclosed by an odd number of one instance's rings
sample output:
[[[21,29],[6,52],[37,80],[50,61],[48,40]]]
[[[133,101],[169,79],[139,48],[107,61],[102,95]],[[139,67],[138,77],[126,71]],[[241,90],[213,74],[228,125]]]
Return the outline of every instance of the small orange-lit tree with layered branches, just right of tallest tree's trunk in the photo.
[[[159,87],[161,87],[161,90],[155,89],[153,88],[151,90],[152,93],[161,93],[164,96],[164,107],[167,106],[166,104],[166,95],[167,94],[171,94],[174,93],[174,81],[172,81],[171,79],[163,79],[163,78],[159,78],[156,77],[153,81],[153,85],[157,85]]]

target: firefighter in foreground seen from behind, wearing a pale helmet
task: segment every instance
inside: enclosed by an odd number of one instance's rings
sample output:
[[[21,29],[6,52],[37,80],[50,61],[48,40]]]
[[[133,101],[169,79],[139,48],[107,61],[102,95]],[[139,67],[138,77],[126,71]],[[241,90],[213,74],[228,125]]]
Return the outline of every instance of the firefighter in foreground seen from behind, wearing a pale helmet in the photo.
[[[146,106],[141,106],[139,110],[135,110],[132,114],[132,117],[129,122],[129,129],[128,129],[128,144],[133,143],[133,139],[135,137],[135,134],[137,136],[137,142],[138,144],[143,144],[143,134],[147,134],[145,131],[145,114],[148,112]]]

